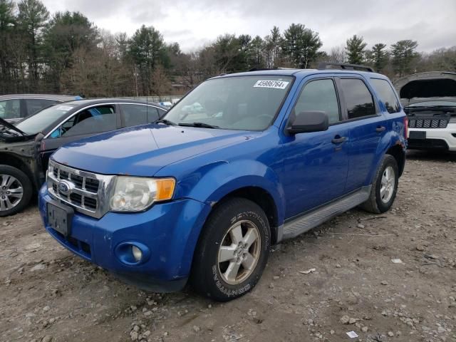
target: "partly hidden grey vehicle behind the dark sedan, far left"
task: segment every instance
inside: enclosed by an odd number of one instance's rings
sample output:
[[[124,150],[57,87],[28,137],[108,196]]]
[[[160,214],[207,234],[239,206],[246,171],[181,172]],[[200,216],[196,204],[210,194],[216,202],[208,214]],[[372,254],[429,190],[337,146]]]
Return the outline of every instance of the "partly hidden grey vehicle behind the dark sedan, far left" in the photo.
[[[9,123],[17,123],[50,105],[66,101],[81,100],[81,96],[19,94],[0,95],[0,118]]]

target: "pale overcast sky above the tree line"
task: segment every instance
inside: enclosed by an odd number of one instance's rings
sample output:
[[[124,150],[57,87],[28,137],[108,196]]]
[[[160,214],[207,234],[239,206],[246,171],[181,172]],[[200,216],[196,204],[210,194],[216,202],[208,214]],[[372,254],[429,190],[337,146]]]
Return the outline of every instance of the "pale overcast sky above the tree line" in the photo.
[[[353,34],[369,46],[401,39],[418,51],[456,45],[456,0],[42,0],[56,11],[81,11],[98,27],[132,35],[154,26],[168,43],[188,52],[223,33],[269,34],[291,23],[317,31],[323,50],[343,46]]]

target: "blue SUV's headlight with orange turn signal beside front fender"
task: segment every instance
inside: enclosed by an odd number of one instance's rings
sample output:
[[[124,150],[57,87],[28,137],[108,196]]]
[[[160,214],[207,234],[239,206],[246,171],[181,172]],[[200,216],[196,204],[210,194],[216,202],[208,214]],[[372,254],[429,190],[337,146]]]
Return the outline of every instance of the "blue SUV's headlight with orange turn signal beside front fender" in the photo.
[[[110,198],[110,210],[140,212],[150,207],[153,202],[171,199],[174,187],[174,178],[116,177]]]

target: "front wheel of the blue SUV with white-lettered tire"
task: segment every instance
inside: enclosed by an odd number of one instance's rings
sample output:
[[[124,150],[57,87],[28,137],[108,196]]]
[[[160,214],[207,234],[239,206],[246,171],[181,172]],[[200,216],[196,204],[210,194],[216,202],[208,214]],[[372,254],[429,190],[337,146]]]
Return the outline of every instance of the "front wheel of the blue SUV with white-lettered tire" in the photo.
[[[239,240],[244,242],[243,246]],[[263,274],[270,244],[268,219],[256,203],[243,198],[220,203],[199,237],[190,285],[215,301],[230,301],[246,294]]]

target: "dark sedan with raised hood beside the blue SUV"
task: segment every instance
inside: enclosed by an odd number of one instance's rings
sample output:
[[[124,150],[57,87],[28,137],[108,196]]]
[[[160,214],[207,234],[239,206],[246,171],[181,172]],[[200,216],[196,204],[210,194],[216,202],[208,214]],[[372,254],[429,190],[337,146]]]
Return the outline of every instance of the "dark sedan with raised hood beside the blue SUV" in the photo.
[[[53,105],[16,125],[0,118],[0,217],[20,212],[44,182],[61,145],[158,120],[167,108],[146,101],[77,100]]]

